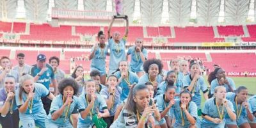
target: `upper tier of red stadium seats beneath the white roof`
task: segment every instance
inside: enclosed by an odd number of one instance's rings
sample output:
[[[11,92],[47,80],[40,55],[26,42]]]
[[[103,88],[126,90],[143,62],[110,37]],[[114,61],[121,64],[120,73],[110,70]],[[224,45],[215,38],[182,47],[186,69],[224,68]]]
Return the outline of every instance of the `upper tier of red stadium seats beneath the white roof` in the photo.
[[[59,26],[49,24],[30,24],[21,22],[1,22],[0,38],[4,33],[14,33],[16,40],[43,41],[84,41],[85,37],[95,40],[98,31],[107,33],[108,26]],[[124,35],[125,27],[113,27],[111,32],[120,31]],[[256,41],[256,25],[248,26],[199,26],[199,27],[170,27],[170,26],[130,26],[128,42],[136,38],[144,38],[145,42],[153,42],[154,38],[165,38],[167,43],[179,42],[225,42],[225,38],[236,36],[244,42]],[[248,34],[246,34],[248,33]],[[93,39],[92,39],[93,38]],[[88,40],[87,40],[88,41]]]

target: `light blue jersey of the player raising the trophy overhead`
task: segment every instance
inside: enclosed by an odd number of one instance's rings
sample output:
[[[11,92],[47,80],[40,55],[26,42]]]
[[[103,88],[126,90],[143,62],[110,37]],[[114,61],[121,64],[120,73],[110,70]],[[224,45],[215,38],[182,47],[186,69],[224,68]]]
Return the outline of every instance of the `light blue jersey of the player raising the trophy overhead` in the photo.
[[[126,38],[122,38],[118,44],[115,43],[113,38],[108,40],[108,48],[110,50],[109,58],[109,74],[115,72],[120,61],[126,61],[125,56]]]

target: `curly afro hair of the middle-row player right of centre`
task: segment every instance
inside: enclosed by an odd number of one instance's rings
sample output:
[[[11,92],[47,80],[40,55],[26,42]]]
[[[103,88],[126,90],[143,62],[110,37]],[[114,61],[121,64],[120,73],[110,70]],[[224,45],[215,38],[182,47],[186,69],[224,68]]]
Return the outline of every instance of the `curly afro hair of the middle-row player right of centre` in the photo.
[[[158,66],[158,70],[159,70],[158,74],[161,74],[163,69],[163,63],[161,60],[155,59],[155,58],[145,61],[143,63],[143,70],[148,74],[149,66],[152,64],[156,64]]]

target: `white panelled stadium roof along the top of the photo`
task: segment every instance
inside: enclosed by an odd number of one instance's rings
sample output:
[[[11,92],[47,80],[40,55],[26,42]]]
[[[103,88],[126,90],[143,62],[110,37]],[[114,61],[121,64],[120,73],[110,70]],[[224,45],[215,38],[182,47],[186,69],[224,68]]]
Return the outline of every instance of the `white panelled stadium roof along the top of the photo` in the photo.
[[[217,26],[255,24],[255,0],[123,0],[134,24],[147,26]],[[1,0],[4,20],[51,20],[51,7],[115,11],[115,0]]]

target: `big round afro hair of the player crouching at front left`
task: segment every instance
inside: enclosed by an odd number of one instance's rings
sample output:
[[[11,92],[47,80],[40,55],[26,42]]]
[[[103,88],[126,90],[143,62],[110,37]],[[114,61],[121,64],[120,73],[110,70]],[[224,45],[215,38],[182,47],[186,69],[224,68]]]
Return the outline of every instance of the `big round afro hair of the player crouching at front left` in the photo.
[[[59,89],[59,92],[61,93],[61,95],[63,95],[63,90],[67,86],[72,86],[72,88],[74,89],[74,95],[77,94],[79,85],[75,81],[75,79],[73,79],[73,78],[64,78],[60,81],[59,86],[58,86],[58,89]]]

